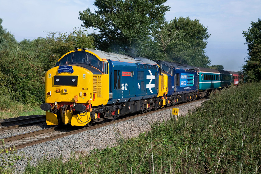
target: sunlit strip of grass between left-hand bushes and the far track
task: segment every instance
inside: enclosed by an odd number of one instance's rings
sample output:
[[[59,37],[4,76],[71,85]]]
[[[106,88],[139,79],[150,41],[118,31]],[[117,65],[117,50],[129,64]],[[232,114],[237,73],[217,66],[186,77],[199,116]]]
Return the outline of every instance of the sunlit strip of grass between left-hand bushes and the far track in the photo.
[[[0,110],[0,119],[45,114],[38,105],[13,102],[10,98],[2,95],[0,96],[0,104],[0,108],[5,108],[4,110]]]

